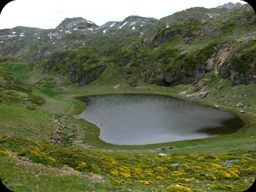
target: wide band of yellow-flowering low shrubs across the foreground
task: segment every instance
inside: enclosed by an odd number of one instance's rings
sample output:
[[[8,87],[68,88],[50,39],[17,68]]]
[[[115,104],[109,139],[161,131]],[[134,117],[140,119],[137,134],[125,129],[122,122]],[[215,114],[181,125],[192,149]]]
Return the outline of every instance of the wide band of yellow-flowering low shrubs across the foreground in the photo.
[[[36,163],[55,168],[67,166],[75,169],[74,173],[77,174],[77,171],[100,173],[107,175],[113,185],[132,186],[137,183],[138,188],[142,185],[151,185],[150,189],[163,190],[169,186],[166,190],[188,192],[200,191],[201,186],[209,185],[212,186],[211,190],[215,191],[243,191],[243,185],[247,184],[244,177],[247,177],[249,185],[253,182],[252,173],[256,171],[256,160],[252,155],[170,154],[162,157],[142,154],[104,154],[1,135],[0,142],[2,145],[0,155],[10,155],[3,147],[18,146],[17,149],[12,148],[17,156],[27,156]],[[172,164],[180,166],[171,168]],[[235,179],[237,182],[234,182]],[[171,184],[173,186],[170,186]],[[177,184],[179,186],[176,186]],[[120,186],[120,190],[121,188],[123,186]]]

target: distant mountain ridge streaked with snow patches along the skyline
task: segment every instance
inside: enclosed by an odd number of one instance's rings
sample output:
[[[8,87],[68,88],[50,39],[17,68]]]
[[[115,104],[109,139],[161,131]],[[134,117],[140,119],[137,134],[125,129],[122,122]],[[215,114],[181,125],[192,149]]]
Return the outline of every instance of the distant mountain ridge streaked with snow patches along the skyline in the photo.
[[[195,7],[162,19],[129,16],[121,22],[97,26],[84,18],[66,18],[55,29],[14,27],[0,30],[0,56],[14,56],[26,61],[50,58],[53,52],[90,46],[102,47],[154,35],[179,22],[214,22],[236,12],[250,9],[249,4],[232,9]]]

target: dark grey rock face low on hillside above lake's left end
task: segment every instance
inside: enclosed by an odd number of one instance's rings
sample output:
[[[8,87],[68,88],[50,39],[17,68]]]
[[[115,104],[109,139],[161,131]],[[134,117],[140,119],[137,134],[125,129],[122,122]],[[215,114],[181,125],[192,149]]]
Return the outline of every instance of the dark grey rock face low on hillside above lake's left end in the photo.
[[[75,68],[73,68],[69,73],[68,79],[78,86],[84,86],[95,81],[97,78],[100,78],[106,68],[106,65],[101,65],[88,70],[75,70]]]

